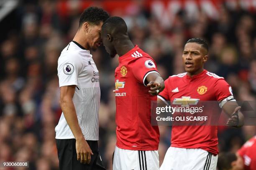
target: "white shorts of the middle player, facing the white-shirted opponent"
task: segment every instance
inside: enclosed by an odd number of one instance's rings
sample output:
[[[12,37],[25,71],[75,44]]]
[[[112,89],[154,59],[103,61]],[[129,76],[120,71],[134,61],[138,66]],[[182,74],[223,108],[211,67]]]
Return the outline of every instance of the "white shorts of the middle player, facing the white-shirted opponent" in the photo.
[[[158,150],[124,150],[116,146],[113,170],[159,170]]]

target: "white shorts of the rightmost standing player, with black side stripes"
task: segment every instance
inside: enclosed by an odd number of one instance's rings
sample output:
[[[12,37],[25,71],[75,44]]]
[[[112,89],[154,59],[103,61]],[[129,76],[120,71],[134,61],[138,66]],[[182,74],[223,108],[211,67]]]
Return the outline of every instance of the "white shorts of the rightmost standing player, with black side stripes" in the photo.
[[[216,170],[217,161],[206,150],[169,147],[160,170]]]

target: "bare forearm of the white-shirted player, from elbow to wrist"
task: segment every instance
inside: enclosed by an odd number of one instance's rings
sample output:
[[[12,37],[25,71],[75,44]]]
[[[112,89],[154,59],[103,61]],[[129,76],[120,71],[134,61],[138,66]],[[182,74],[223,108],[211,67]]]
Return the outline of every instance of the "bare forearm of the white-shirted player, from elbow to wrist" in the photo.
[[[75,139],[83,138],[84,136],[82,134],[81,128],[79,127],[77,114],[72,99],[65,99],[60,101],[60,106]]]

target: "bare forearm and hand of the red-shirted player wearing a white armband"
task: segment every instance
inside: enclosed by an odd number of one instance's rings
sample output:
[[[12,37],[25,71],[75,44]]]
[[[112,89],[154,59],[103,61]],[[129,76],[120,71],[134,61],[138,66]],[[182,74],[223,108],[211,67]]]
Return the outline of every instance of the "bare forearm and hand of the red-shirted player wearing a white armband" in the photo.
[[[230,116],[230,118],[227,121],[228,126],[233,126],[233,127],[241,127],[243,126],[243,114],[241,113],[240,109],[241,107],[238,106],[236,101],[227,101],[222,109],[226,114]]]

